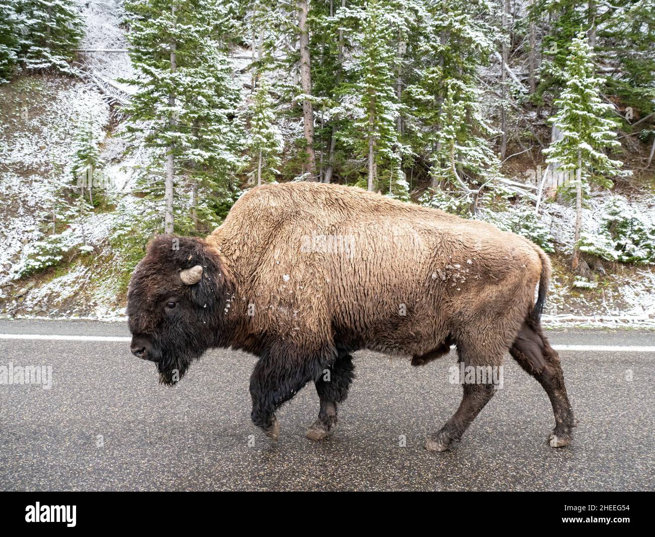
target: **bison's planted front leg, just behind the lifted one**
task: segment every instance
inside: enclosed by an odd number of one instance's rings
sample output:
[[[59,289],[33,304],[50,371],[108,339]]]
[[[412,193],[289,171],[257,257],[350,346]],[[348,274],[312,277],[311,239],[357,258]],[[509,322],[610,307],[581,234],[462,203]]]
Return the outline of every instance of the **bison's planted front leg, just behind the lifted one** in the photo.
[[[353,371],[352,356],[342,354],[314,381],[321,407],[318,420],[307,429],[307,438],[310,440],[326,438],[337,425],[337,403],[346,400],[348,388],[354,378]]]

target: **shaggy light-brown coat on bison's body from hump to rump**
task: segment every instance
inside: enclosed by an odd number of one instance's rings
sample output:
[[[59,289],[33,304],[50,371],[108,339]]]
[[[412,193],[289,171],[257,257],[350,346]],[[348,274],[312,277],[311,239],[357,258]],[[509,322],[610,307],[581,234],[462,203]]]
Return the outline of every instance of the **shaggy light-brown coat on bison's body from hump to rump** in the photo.
[[[307,351],[342,333],[420,356],[451,336],[499,364],[550,277],[523,237],[345,186],[252,189],[206,241],[235,283],[230,319]]]

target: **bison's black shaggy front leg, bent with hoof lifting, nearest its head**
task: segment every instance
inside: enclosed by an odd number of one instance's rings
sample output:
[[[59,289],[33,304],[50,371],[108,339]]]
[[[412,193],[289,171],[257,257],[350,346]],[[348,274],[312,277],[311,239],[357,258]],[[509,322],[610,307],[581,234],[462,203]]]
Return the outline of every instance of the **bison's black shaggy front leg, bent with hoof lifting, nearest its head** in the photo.
[[[298,362],[288,353],[263,355],[250,376],[252,421],[267,436],[277,440],[280,424],[275,411],[289,401],[312,378],[307,363]]]

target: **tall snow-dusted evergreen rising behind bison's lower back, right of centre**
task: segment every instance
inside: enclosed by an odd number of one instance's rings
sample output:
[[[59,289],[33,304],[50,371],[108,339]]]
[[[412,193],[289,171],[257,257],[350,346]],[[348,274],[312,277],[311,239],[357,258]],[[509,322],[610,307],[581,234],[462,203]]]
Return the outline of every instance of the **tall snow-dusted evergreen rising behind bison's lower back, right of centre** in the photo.
[[[477,88],[479,68],[495,49],[491,22],[496,9],[486,0],[426,3],[415,43],[413,69],[403,94],[412,110],[407,138],[432,164],[432,188],[495,178],[500,163],[489,138],[495,130],[483,117]]]

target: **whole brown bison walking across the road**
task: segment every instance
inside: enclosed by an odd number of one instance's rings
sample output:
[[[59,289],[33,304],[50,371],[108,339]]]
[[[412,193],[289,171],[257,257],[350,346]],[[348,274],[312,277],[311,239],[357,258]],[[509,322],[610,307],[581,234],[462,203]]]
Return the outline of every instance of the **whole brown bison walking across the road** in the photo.
[[[131,350],[166,385],[207,349],[253,353],[255,425],[277,439],[276,409],[311,381],[320,410],[307,437],[320,440],[337,424],[358,349],[419,366],[455,345],[460,363],[485,368],[509,349],[548,393],[548,442],[561,447],[574,420],[540,327],[550,272],[543,250],[484,222],[352,187],[260,186],[206,239],[149,243],[128,291]],[[464,382],[457,412],[426,448],[457,442],[495,388],[491,378]]]

